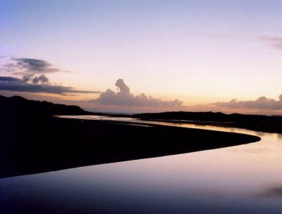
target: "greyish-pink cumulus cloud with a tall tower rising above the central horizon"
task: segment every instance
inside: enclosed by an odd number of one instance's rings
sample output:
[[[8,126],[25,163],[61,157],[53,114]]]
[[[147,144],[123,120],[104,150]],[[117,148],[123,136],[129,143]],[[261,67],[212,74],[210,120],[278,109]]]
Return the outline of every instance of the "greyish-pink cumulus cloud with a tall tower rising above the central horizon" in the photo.
[[[134,96],[130,93],[130,88],[121,79],[116,81],[116,87],[118,87],[118,92],[107,89],[106,92],[102,92],[95,101],[103,105],[113,106],[180,107],[182,105],[182,101],[178,99],[174,101],[164,101],[154,99],[151,96],[148,97],[145,94]]]

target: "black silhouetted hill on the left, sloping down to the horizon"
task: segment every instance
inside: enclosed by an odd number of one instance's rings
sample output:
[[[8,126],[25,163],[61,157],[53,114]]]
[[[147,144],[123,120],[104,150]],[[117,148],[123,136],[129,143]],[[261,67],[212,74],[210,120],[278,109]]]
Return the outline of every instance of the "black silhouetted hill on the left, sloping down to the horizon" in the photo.
[[[66,106],[47,101],[33,101],[22,96],[1,96],[0,115],[89,115],[78,106]]]

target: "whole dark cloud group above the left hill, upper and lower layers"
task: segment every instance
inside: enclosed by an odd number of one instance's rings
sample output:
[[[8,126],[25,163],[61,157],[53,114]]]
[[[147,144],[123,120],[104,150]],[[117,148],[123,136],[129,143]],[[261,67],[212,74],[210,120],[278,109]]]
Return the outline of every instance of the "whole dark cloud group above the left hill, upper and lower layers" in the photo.
[[[8,92],[29,92],[47,94],[90,94],[100,92],[76,90],[51,84],[47,73],[58,73],[63,70],[54,68],[51,63],[35,58],[11,58],[8,63],[0,65],[0,90]]]

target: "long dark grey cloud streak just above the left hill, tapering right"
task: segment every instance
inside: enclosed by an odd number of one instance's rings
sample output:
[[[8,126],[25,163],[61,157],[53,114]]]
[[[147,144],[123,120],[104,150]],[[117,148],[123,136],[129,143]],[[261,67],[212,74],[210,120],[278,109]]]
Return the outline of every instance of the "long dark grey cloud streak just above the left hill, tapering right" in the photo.
[[[30,79],[31,80],[31,79]],[[35,77],[32,82],[47,82],[48,78],[44,75]],[[1,77],[0,76],[0,90],[9,92],[33,92],[33,93],[47,93],[47,94],[91,94],[100,93],[92,91],[82,91],[73,89],[73,87],[64,87],[51,84],[32,84],[26,81],[26,79],[20,79],[18,77]]]

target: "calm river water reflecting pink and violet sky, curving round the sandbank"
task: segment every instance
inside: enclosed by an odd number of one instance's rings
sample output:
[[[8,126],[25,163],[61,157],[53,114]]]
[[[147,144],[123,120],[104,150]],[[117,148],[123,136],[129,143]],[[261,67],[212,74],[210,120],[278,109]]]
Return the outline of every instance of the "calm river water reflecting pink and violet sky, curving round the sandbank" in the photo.
[[[281,134],[178,126],[262,141],[0,179],[0,213],[282,213]]]

